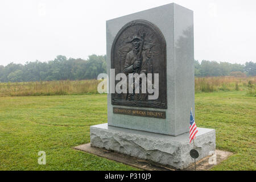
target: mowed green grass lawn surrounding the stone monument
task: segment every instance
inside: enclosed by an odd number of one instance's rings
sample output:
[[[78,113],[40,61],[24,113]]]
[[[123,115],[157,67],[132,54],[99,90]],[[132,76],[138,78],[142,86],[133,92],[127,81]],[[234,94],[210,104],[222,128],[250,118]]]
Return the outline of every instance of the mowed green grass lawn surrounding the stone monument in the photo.
[[[0,170],[137,170],[73,150],[90,126],[107,122],[106,95],[0,97]],[[198,127],[216,129],[216,144],[234,152],[213,170],[255,170],[256,98],[245,92],[196,94]],[[46,152],[46,165],[38,152]]]

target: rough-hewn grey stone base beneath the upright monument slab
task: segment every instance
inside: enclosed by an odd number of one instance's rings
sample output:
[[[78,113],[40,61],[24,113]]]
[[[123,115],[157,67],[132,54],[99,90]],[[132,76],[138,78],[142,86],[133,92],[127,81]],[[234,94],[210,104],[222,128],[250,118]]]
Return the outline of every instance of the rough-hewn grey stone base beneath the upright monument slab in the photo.
[[[203,159],[215,151],[215,130],[198,128],[195,147]],[[108,123],[90,127],[90,144],[136,158],[151,160],[176,169],[187,168],[194,160],[189,155],[193,143],[188,133],[172,137],[146,131],[108,126]]]

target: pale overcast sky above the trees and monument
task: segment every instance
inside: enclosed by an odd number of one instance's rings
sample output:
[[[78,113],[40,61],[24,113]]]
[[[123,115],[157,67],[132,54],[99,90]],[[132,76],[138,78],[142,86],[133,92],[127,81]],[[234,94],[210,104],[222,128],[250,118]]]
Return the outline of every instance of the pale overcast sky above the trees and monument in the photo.
[[[194,11],[195,59],[256,62],[256,1],[1,0],[0,64],[106,53],[106,20],[175,2]]]

